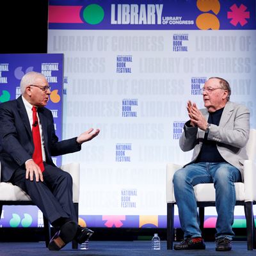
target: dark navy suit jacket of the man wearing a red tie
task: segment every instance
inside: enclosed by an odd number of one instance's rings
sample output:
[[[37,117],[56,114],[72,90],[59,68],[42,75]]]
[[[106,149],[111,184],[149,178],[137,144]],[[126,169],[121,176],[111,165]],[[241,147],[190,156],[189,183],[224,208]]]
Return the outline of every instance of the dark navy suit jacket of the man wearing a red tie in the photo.
[[[45,162],[55,166],[51,156],[60,156],[81,150],[76,138],[58,141],[52,113],[38,108],[44,136]],[[25,162],[34,151],[32,131],[22,97],[0,104],[0,162],[1,181],[10,180],[17,168],[25,170]]]

